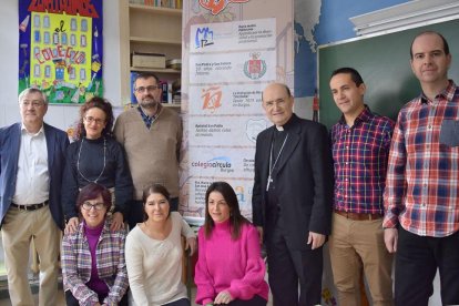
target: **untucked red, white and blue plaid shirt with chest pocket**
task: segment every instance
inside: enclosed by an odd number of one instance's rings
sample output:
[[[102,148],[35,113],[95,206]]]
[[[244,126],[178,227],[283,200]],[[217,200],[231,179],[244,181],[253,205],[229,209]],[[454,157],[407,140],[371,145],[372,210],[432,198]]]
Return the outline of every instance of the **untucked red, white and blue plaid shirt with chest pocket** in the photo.
[[[384,227],[445,237],[459,230],[459,88],[399,112],[389,153]]]

